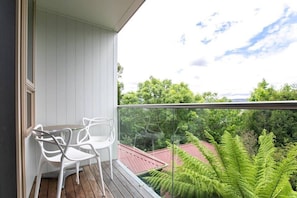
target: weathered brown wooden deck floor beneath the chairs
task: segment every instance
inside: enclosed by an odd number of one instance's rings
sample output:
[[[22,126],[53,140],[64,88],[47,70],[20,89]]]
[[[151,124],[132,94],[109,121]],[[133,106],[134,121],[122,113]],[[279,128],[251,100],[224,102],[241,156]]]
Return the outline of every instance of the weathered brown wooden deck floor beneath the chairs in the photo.
[[[118,161],[113,162],[113,180],[110,179],[109,163],[102,163],[106,198],[155,198],[159,197],[148,188],[139,178],[132,176]],[[67,177],[62,190],[62,198],[97,198],[103,197],[100,181],[98,181],[96,165],[87,165],[80,172],[80,184],[75,182],[75,174]],[[57,179],[42,179],[39,197],[56,197]],[[30,197],[34,197],[35,184]]]

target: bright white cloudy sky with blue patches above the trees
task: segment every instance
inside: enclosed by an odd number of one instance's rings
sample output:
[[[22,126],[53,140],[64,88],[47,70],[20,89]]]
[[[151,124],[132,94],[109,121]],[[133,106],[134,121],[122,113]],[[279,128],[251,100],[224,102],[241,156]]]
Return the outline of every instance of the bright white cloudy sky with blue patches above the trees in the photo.
[[[297,1],[146,0],[118,44],[124,92],[153,76],[240,97],[297,83]]]

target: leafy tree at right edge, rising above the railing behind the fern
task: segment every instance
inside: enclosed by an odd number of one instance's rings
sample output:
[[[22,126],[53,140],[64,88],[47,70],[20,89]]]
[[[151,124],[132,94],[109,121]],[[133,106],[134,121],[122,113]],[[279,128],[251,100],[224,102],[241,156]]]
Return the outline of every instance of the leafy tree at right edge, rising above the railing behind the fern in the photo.
[[[296,86],[285,84],[276,90],[263,80],[254,89],[250,101],[287,101],[297,100]],[[297,112],[295,110],[251,110],[246,113],[247,130],[260,135],[263,129],[276,135],[276,145],[285,145],[297,141]]]

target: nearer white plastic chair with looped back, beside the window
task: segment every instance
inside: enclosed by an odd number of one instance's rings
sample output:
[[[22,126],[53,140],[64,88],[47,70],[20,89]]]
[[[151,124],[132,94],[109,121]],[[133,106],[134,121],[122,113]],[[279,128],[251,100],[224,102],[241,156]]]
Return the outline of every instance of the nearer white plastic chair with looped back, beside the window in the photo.
[[[81,131],[84,131],[81,129]],[[40,181],[42,176],[42,167],[45,164],[50,164],[53,167],[60,168],[57,185],[57,198],[61,196],[62,183],[64,177],[64,169],[69,166],[76,165],[76,182],[79,184],[79,165],[81,161],[90,160],[95,158],[100,174],[101,186],[103,196],[105,196],[105,187],[103,182],[102,167],[100,155],[93,146],[89,143],[82,144],[70,144],[72,138],[72,130],[65,128],[63,130],[56,131],[44,131],[42,125],[36,125],[32,131],[35,140],[39,143],[41,148],[41,156],[38,165],[38,174],[35,186],[35,195],[37,198],[39,194]],[[80,150],[80,147],[89,148],[92,153],[84,152]]]

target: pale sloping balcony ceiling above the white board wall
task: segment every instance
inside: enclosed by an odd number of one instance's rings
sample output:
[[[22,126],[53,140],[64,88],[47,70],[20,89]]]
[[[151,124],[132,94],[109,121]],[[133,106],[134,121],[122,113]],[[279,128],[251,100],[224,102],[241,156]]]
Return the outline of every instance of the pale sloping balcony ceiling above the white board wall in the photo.
[[[145,0],[37,0],[37,7],[119,32]]]

